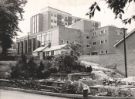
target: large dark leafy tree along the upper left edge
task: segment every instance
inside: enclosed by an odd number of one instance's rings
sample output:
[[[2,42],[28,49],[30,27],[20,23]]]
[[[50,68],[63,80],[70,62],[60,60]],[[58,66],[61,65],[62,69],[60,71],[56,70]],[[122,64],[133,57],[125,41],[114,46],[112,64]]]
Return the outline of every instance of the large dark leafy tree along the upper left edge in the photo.
[[[2,54],[6,55],[11,47],[12,39],[20,31],[18,22],[23,20],[23,7],[26,0],[1,0],[0,1],[0,42]]]

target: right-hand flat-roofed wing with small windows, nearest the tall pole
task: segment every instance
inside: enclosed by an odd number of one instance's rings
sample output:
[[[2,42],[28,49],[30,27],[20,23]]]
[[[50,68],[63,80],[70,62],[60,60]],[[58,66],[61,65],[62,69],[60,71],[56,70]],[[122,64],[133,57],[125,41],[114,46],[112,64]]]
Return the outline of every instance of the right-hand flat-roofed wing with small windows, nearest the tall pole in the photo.
[[[105,26],[93,31],[91,39],[91,54],[115,53],[113,45],[123,38],[122,29],[115,26]]]

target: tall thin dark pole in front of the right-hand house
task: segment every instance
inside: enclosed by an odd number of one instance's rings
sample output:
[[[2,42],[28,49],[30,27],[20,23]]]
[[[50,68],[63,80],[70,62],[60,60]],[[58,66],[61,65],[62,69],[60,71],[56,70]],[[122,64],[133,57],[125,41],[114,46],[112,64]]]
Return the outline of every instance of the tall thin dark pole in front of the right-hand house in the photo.
[[[123,40],[124,40],[124,63],[125,63],[125,77],[128,77],[128,73],[127,73],[127,49],[126,49],[126,28],[122,28],[123,30]]]

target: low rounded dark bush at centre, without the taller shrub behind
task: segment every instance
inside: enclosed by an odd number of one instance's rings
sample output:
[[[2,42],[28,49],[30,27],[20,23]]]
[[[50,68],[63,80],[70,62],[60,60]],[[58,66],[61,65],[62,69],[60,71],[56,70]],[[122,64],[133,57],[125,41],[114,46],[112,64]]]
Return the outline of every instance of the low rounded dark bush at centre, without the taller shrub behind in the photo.
[[[61,54],[54,58],[53,67],[58,68],[59,72],[71,73],[81,71],[83,66],[76,58],[70,54]],[[82,67],[82,68],[81,68]]]

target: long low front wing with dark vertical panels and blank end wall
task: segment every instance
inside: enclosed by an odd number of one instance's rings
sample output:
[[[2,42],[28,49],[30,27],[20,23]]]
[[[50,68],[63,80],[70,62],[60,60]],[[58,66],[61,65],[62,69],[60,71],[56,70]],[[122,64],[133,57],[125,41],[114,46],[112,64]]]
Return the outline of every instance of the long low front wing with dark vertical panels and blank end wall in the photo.
[[[81,43],[81,31],[78,29],[66,28],[64,26],[55,27],[48,31],[39,32],[17,40],[18,54],[32,54],[34,50],[41,46],[62,45],[65,43]]]

